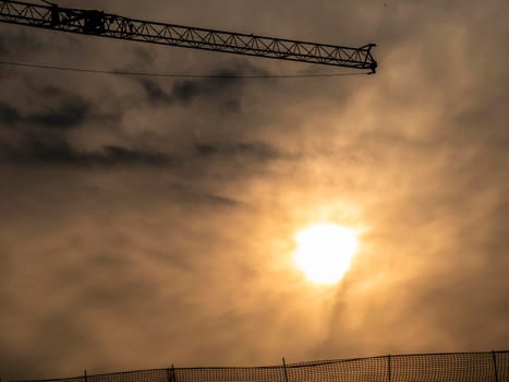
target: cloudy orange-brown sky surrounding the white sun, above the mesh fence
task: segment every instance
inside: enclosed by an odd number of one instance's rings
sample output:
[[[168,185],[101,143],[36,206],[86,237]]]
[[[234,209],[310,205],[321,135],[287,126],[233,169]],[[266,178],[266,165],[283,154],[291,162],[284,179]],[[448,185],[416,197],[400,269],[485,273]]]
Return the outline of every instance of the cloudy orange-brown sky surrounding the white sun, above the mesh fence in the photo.
[[[509,346],[509,2],[65,7],[357,47],[375,75],[0,64],[0,377]],[[0,60],[343,73],[0,24]],[[352,227],[344,278],[294,235]]]

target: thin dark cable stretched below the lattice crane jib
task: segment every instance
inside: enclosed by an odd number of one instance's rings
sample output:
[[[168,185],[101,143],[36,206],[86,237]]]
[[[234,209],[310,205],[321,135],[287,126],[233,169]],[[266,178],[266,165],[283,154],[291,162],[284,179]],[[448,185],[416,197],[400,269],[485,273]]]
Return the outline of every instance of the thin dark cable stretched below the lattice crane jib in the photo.
[[[133,72],[123,70],[100,70],[88,68],[72,68],[60,65],[48,65],[29,62],[16,61],[0,61],[2,65],[33,68],[33,69],[48,69],[60,70],[69,72],[81,72],[92,74],[112,74],[112,75],[131,75],[131,76],[155,76],[155,77],[173,77],[173,79],[308,79],[308,77],[334,77],[334,76],[350,76],[350,75],[365,75],[365,73],[316,73],[316,74],[186,74],[186,73],[150,73],[150,72]]]

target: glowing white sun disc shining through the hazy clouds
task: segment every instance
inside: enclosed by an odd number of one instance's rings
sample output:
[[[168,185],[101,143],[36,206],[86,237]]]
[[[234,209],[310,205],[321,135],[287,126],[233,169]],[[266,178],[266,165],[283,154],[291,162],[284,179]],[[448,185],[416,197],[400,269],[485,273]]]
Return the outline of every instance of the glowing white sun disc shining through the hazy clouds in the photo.
[[[359,247],[353,229],[330,223],[299,231],[295,241],[295,263],[316,284],[338,283],[350,268]]]

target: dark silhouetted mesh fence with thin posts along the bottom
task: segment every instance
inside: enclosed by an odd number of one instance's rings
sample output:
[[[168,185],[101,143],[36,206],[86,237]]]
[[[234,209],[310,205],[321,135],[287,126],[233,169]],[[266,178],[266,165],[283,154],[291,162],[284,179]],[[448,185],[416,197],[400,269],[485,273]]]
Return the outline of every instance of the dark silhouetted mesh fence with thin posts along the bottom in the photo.
[[[509,382],[509,350],[387,355],[250,368],[167,368],[39,382]],[[35,382],[35,381],[32,381]]]

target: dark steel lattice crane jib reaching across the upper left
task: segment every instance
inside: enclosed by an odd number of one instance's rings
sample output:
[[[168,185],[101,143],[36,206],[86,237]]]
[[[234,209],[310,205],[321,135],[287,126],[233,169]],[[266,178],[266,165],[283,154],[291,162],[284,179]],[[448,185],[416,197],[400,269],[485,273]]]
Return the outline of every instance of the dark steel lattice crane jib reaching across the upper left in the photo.
[[[135,20],[97,10],[63,8],[48,1],[45,3],[47,5],[0,0],[0,22],[133,41],[363,69],[371,73],[375,73],[377,68],[372,56],[375,44],[349,48]]]

